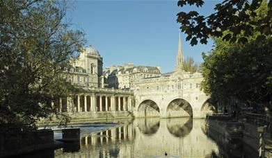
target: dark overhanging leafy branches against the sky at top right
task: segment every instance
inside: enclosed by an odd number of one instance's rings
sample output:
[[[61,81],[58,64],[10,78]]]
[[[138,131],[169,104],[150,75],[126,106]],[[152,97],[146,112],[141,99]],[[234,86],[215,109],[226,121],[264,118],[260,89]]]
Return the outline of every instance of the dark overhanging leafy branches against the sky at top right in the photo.
[[[202,0],[179,0],[177,5],[195,5],[202,7]],[[259,10],[266,6],[266,10]],[[177,22],[181,23],[180,29],[187,34],[186,41],[191,40],[191,45],[207,44],[209,37],[223,37],[230,42],[246,43],[248,38],[257,33],[257,40],[265,40],[272,35],[272,0],[224,0],[216,4],[216,12],[207,17],[199,15],[197,11],[179,12]],[[258,16],[258,13],[262,16]],[[256,19],[255,17],[259,17]],[[224,34],[228,31],[227,34]]]

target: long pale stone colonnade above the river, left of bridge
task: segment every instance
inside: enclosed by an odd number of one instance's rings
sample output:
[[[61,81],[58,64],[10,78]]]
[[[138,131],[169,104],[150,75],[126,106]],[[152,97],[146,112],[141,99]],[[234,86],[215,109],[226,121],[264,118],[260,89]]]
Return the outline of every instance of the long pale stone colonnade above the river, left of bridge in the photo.
[[[77,94],[60,98],[60,112],[117,112],[132,111],[131,96]]]

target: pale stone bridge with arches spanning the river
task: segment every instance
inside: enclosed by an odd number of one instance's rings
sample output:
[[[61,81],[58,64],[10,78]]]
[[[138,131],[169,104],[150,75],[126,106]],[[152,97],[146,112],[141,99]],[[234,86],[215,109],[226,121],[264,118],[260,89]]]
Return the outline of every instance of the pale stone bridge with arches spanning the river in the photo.
[[[167,78],[166,78],[167,79]],[[169,78],[168,78],[169,80]],[[169,86],[148,80],[134,90],[136,117],[193,117],[205,118],[214,111],[209,96],[200,90],[202,78],[182,80],[181,86]]]

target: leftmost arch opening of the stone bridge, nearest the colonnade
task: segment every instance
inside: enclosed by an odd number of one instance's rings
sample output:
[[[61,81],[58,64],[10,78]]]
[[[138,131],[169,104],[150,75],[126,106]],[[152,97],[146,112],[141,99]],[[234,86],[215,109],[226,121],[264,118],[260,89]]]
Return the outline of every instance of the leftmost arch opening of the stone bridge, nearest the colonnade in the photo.
[[[159,106],[153,100],[144,100],[138,107],[139,117],[159,117]]]

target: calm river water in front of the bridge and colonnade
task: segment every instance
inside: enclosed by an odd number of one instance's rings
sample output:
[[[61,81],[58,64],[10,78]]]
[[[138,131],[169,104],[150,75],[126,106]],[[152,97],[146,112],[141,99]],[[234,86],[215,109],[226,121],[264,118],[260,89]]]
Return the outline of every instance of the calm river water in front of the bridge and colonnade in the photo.
[[[78,143],[58,150],[37,152],[23,157],[255,157],[245,152],[241,142],[224,143],[225,138],[206,128],[204,119],[135,119],[124,121],[102,132],[81,129]],[[218,145],[219,144],[219,145]],[[248,151],[250,151],[249,149]]]

